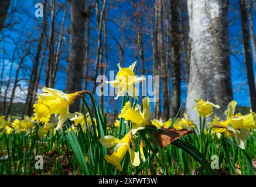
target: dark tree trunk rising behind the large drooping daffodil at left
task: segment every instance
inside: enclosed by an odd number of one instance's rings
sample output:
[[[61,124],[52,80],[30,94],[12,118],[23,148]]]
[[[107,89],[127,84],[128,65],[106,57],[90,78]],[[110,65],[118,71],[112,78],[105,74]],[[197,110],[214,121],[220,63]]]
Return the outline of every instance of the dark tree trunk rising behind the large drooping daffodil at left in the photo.
[[[66,93],[81,90],[84,60],[84,0],[71,0],[70,51],[67,64]],[[70,112],[79,111],[80,100],[70,106]]]

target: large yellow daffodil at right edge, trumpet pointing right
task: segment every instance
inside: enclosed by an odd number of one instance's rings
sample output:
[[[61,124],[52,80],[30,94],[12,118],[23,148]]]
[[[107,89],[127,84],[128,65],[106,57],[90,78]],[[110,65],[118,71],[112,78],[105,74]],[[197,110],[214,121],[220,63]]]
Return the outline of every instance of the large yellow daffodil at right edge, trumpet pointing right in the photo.
[[[235,106],[237,102],[231,101],[228,103],[225,115],[226,121],[219,121],[217,117],[214,117],[212,123],[209,123],[213,131],[217,133],[225,134],[227,137],[235,136],[235,141],[240,148],[245,148],[246,140],[250,133],[250,129],[256,128],[256,116],[255,113],[250,110],[248,115],[234,115]]]

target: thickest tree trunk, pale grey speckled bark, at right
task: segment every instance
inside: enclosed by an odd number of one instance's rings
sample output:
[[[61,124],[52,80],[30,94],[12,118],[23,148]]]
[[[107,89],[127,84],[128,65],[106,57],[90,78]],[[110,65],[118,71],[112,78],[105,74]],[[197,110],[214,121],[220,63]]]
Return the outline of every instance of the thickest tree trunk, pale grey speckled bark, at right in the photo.
[[[219,15],[213,15],[213,5]],[[197,121],[194,99],[202,98],[220,105],[217,115],[223,115],[232,101],[227,0],[187,0],[190,25],[190,74],[186,112]],[[211,16],[213,15],[213,16]]]

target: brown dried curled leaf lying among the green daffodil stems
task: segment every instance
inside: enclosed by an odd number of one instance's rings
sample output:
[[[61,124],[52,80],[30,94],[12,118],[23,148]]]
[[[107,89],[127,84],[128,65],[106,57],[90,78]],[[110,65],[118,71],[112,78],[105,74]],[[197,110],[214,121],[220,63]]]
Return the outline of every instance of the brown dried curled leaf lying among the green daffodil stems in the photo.
[[[194,133],[194,131],[190,131],[188,129],[175,130],[174,128],[161,128],[163,133],[156,132],[154,134],[156,140],[158,140],[160,146],[163,148],[168,146],[173,141],[177,140],[179,137],[185,136],[190,133]],[[155,144],[152,140],[151,142]]]

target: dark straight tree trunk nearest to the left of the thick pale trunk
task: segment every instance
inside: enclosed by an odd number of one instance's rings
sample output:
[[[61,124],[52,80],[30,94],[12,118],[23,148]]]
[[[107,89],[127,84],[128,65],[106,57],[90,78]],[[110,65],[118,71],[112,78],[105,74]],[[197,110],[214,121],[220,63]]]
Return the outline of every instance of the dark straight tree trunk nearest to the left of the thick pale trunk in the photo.
[[[180,107],[180,32],[178,0],[170,1],[171,30],[172,33],[172,101],[170,117],[175,117]]]

